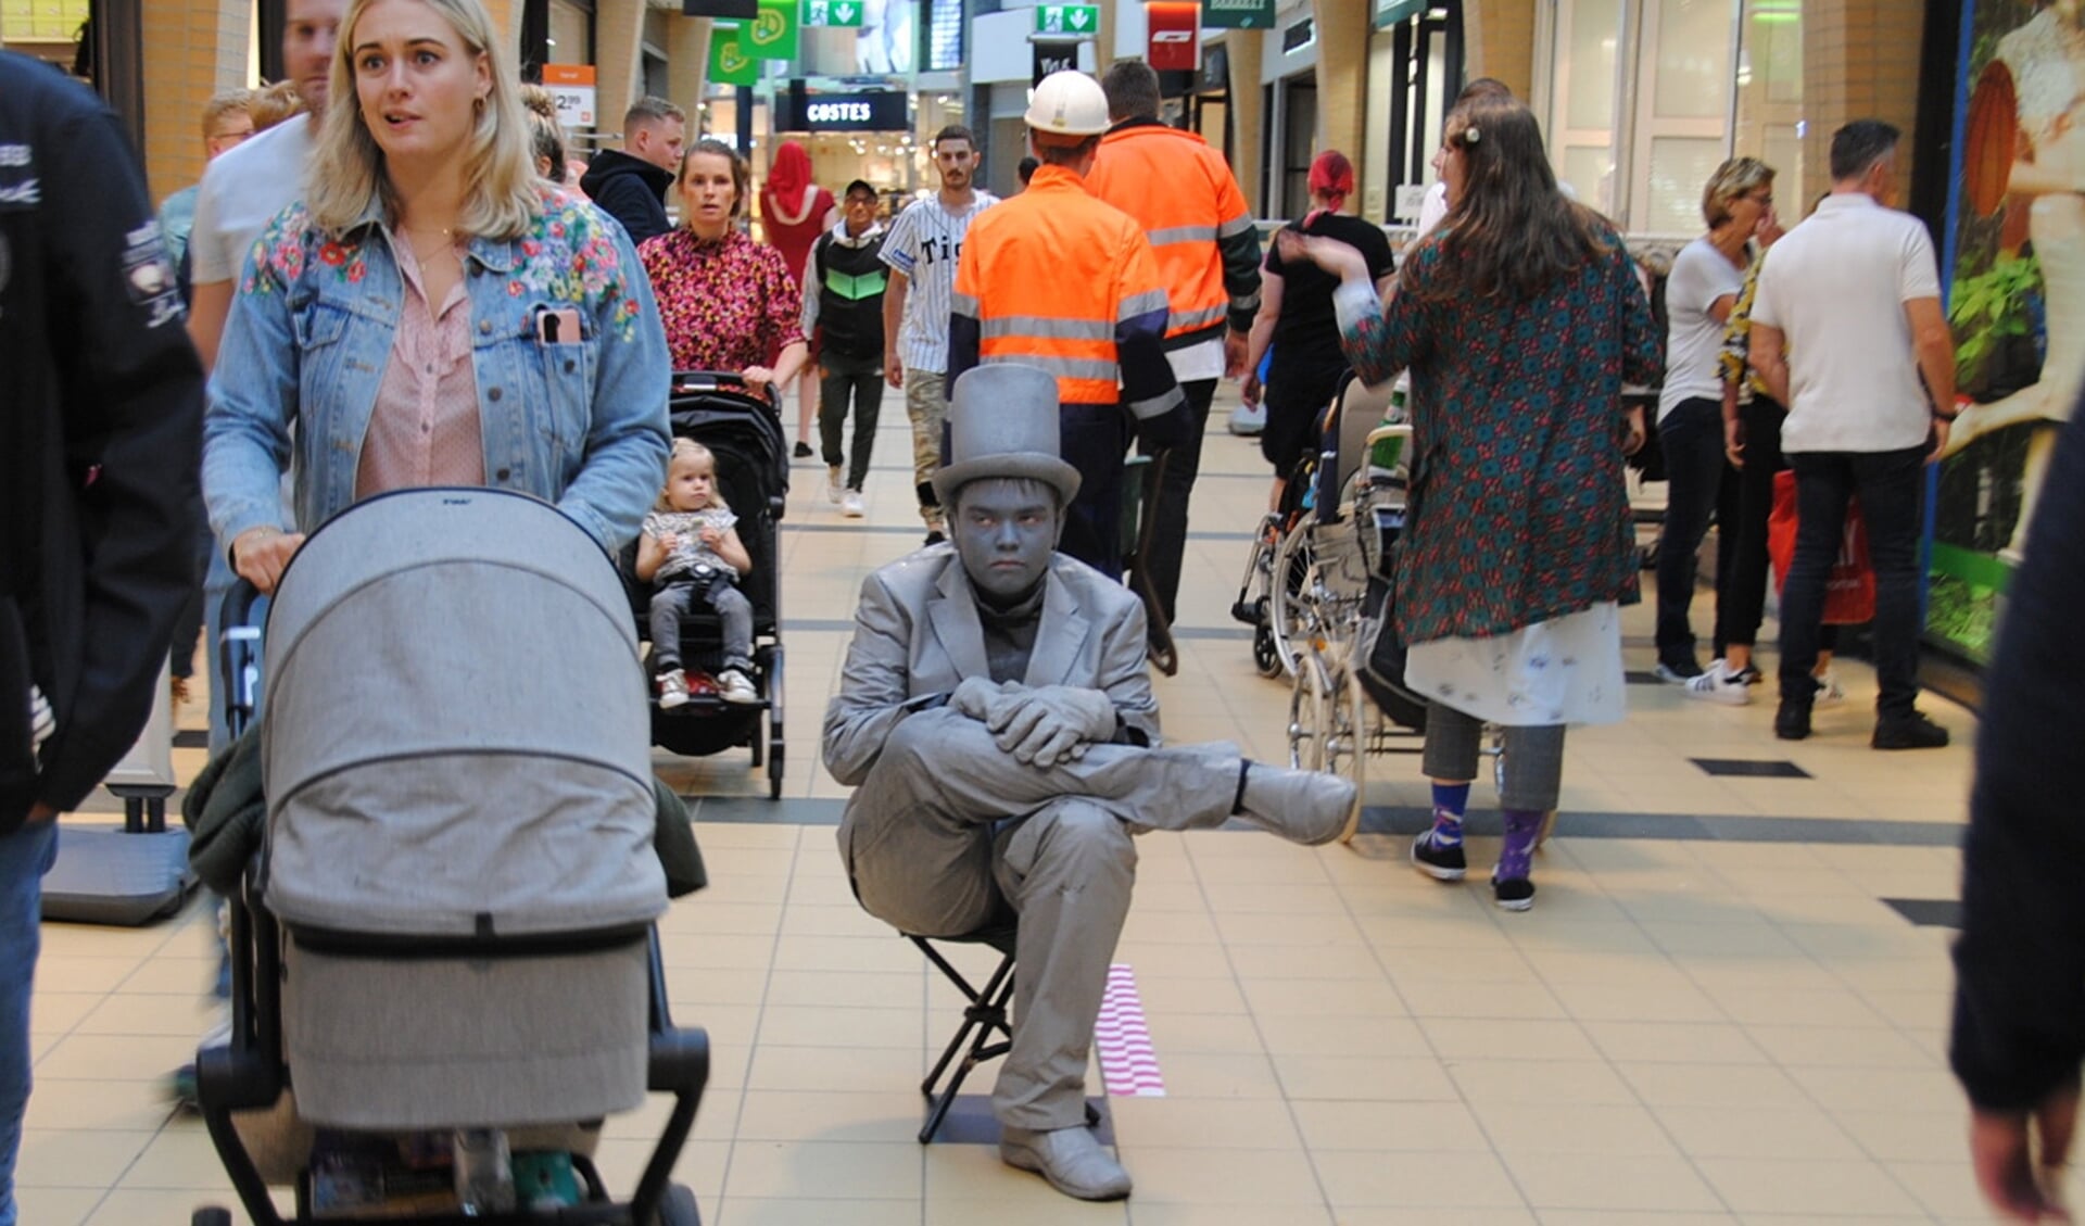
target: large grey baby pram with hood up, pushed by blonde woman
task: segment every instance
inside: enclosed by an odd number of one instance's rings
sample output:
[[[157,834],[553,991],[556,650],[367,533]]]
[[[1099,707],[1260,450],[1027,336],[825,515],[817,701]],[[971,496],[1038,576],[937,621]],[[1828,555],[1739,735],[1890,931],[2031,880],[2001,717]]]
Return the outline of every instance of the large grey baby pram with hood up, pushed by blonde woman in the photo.
[[[263,651],[265,844],[229,901],[231,1036],[196,1057],[246,1213],[279,1224],[267,1184],[292,1178],[311,1213],[304,1155],[256,1161],[236,1118],[286,1088],[344,1132],[557,1130],[659,1090],[630,1201],[575,1163],[580,1203],[469,1220],[696,1222],[667,1176],[709,1045],[665,1007],[644,678],[607,555],[521,494],[386,494],[311,534]]]

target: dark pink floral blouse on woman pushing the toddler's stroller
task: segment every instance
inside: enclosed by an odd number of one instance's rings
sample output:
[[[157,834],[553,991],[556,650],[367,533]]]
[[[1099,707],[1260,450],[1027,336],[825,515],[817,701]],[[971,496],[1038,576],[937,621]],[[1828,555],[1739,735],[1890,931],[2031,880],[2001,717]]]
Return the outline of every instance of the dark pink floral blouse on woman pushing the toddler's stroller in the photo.
[[[715,242],[676,229],[644,240],[638,259],[651,273],[676,371],[765,367],[803,340],[796,281],[771,246],[736,229]]]

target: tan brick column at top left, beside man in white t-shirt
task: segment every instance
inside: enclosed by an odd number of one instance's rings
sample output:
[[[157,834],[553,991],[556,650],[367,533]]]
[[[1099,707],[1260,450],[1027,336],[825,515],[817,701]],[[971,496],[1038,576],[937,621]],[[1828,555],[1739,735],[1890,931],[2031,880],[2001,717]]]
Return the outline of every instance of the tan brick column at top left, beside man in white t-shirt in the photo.
[[[252,4],[152,0],[144,4],[144,169],[152,200],[202,177],[202,104],[250,85]]]

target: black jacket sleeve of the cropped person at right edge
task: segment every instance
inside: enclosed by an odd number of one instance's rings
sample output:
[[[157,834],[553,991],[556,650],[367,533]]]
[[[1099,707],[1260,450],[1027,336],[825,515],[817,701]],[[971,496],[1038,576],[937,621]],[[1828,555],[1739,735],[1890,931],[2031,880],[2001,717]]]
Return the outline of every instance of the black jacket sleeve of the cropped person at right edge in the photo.
[[[2085,411],[2041,482],[1985,678],[1962,842],[1949,1063],[1991,1111],[2077,1084],[2085,1059]]]

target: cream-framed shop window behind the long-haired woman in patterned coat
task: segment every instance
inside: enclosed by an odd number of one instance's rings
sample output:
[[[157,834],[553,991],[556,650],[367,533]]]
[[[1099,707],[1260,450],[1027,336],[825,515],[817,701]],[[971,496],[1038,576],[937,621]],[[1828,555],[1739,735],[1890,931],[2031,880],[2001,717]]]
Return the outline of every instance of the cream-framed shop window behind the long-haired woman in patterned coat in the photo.
[[[1549,152],[1580,200],[1639,234],[1693,234],[1733,154],[1801,198],[1801,0],[1557,0]]]

